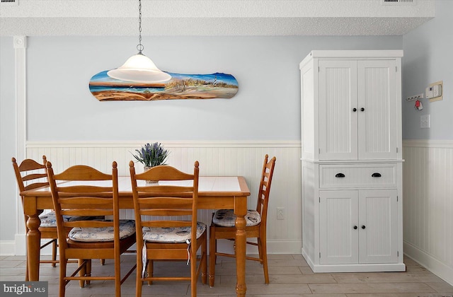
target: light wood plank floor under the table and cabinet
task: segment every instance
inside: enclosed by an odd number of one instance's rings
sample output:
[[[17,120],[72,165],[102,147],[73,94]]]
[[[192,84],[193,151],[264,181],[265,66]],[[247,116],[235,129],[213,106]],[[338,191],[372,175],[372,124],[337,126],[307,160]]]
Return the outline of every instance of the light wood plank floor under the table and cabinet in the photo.
[[[313,297],[453,297],[450,286],[424,267],[406,257],[407,272],[380,273],[323,273],[314,274],[302,255],[270,255],[270,284],[264,284],[263,269],[258,262],[247,261],[247,296],[313,296]],[[132,267],[134,255],[122,256],[122,267]],[[159,263],[156,274],[180,272],[188,269],[185,263]],[[234,259],[219,258],[216,266],[215,286],[202,285],[199,281],[199,296],[236,296]],[[106,260],[101,267],[93,262],[93,273],[112,272],[112,262]],[[40,277],[48,281],[49,296],[57,296],[58,267],[41,264]],[[23,281],[24,257],[0,257],[0,281]],[[86,288],[79,288],[71,281],[66,296],[113,296],[110,281],[92,281]],[[135,275],[122,284],[122,296],[134,296]],[[156,282],[144,285],[143,296],[190,296],[188,282]]]

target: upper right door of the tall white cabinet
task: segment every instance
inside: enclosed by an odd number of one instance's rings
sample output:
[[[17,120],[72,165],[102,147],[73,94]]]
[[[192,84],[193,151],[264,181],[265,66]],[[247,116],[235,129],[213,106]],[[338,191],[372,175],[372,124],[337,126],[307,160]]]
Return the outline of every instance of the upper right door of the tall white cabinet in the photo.
[[[362,60],[358,71],[358,158],[396,158],[397,83],[394,60]]]

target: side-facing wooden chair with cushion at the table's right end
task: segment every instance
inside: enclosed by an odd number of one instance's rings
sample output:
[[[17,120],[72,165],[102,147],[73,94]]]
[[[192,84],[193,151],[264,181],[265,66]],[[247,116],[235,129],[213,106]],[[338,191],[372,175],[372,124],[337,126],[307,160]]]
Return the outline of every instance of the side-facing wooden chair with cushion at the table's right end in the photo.
[[[266,222],[268,219],[268,202],[270,184],[274,173],[275,160],[273,157],[268,161],[266,154],[261,172],[260,187],[258,190],[258,202],[256,210],[248,210],[246,215],[247,238],[256,238],[257,243],[247,241],[248,245],[258,246],[258,257],[246,257],[248,260],[255,260],[263,264],[265,284],[269,284],[268,255],[266,247]],[[234,222],[236,216],[233,209],[219,209],[212,216],[210,226],[210,286],[214,286],[215,263],[217,255],[226,257],[236,257],[236,255],[217,252],[217,240],[234,240],[236,237],[236,226]],[[236,247],[234,249],[236,251]]]

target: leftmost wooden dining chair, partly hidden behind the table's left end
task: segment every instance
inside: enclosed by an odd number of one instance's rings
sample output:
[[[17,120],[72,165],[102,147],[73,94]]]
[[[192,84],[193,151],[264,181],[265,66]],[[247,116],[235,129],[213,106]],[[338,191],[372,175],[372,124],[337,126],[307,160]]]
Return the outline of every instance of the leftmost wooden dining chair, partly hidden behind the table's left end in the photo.
[[[46,156],[42,156],[42,164],[32,159],[25,159],[20,165],[17,164],[16,158],[12,158],[13,169],[16,175],[16,181],[19,189],[19,193],[25,190],[33,190],[38,187],[46,187],[49,185],[47,182],[47,173],[45,170],[45,163],[47,162]],[[21,195],[22,206],[24,197]],[[42,212],[42,211],[41,211]],[[52,245],[52,260],[40,260],[40,263],[51,263],[52,267],[55,267],[57,260],[57,224],[53,220],[55,219],[55,213],[41,214],[40,220],[41,225],[39,231],[41,232],[41,238],[50,239],[43,245],[40,245],[40,249]],[[27,216],[24,215],[25,220],[25,234],[28,233],[27,227]],[[35,247],[38,248],[38,247]],[[28,264],[25,266],[25,281],[28,281]]]

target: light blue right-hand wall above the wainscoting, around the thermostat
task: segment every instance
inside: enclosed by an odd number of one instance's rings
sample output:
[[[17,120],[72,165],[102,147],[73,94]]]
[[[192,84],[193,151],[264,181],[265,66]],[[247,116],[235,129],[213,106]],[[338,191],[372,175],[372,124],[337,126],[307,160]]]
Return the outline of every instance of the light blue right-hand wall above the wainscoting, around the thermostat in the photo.
[[[442,101],[403,101],[403,139],[453,139],[453,1],[436,1],[436,16],[403,36],[403,98],[444,82]],[[420,129],[420,115],[430,115],[431,128]]]

